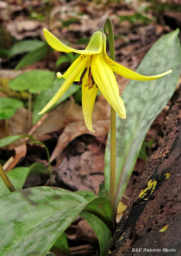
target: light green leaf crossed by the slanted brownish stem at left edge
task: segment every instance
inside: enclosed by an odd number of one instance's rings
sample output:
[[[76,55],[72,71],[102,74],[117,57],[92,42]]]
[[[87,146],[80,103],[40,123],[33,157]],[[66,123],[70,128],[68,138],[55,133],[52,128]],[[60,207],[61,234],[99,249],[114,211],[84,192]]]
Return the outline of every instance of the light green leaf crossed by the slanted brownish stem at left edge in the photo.
[[[18,167],[7,172],[7,176],[13,183],[14,187],[19,190],[23,187],[28,176],[30,167]],[[0,196],[10,193],[3,180],[0,178]]]

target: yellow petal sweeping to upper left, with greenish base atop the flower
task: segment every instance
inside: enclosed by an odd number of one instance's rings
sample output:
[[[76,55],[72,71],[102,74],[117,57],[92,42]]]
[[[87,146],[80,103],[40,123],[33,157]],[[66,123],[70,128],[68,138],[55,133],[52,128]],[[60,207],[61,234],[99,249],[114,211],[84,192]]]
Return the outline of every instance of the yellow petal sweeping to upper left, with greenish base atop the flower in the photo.
[[[80,53],[80,54],[87,54],[92,55],[96,53],[100,53],[102,51],[102,32],[96,31],[92,37],[91,40],[86,47],[85,50],[76,50],[74,48],[71,48],[65,44],[63,44],[58,38],[56,38],[50,31],[48,31],[46,28],[43,29],[44,37],[47,40],[48,44],[59,52],[65,52],[65,53]]]

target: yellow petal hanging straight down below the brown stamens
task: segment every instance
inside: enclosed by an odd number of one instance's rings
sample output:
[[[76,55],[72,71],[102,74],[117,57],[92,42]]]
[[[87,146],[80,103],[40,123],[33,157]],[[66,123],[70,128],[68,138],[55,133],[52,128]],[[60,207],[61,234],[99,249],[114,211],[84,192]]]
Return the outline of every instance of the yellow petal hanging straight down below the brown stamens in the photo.
[[[95,132],[92,128],[92,110],[94,107],[95,98],[97,95],[98,88],[94,84],[93,88],[90,90],[88,86],[85,87],[85,84],[88,80],[88,71],[83,77],[82,80],[82,109],[84,115],[84,121],[89,131]]]

